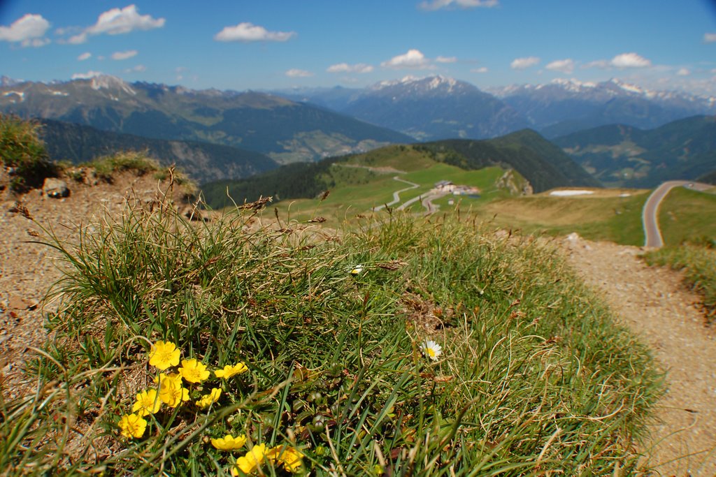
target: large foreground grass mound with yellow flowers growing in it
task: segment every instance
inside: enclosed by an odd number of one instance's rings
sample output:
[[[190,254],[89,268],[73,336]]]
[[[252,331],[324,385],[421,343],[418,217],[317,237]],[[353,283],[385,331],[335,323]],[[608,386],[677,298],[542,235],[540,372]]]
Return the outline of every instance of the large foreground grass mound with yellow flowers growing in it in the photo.
[[[69,268],[53,338],[28,369],[42,391],[0,421],[9,474],[637,468],[657,374],[553,249],[395,214],[340,236],[257,227],[263,205],[198,224],[134,205],[77,243],[50,234]],[[130,428],[137,393],[162,393],[186,366],[154,358],[167,342],[213,377],[180,378],[187,400]],[[228,380],[213,373],[238,363],[246,372]],[[212,439],[226,435],[246,444],[222,451]]]

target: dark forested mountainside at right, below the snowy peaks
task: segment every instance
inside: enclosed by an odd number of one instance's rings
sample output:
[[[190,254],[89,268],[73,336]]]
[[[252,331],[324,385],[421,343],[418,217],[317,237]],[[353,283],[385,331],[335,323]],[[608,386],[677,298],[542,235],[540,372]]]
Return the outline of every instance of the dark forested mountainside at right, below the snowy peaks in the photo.
[[[716,171],[716,116],[695,116],[654,129],[624,124],[586,129],[552,140],[612,187],[656,187]]]

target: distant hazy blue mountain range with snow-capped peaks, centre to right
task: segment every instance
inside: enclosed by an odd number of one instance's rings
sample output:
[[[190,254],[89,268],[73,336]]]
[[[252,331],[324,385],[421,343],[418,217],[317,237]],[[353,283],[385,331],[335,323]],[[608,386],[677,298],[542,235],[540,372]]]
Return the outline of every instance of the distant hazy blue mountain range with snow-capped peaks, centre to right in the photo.
[[[405,77],[365,89],[306,88],[273,94],[319,104],[419,140],[485,139],[529,127],[558,137],[604,124],[652,128],[697,114],[716,114],[716,98],[658,92],[611,79],[557,79],[481,91],[440,76]]]

